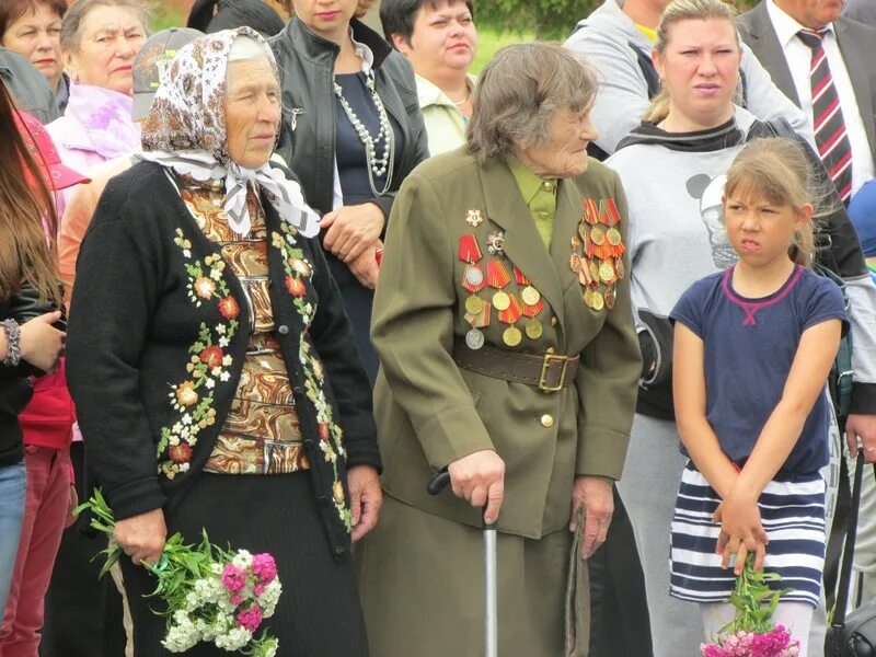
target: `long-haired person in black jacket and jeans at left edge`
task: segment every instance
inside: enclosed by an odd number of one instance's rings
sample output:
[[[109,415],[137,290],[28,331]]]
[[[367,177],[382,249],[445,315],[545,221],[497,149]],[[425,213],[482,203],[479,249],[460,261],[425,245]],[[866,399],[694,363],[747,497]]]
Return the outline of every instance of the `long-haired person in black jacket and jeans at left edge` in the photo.
[[[59,289],[43,233],[47,216],[55,234],[51,196],[14,114],[0,79],[0,609],[5,608],[24,516],[18,416],[33,393],[30,376],[53,369],[64,339],[51,326],[60,318],[51,306]]]

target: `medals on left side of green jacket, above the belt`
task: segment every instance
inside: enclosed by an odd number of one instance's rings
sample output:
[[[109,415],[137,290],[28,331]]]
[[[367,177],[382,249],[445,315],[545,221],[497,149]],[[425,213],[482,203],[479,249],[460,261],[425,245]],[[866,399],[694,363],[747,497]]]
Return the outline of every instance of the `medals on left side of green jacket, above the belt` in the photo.
[[[509,347],[518,346],[523,339],[523,333],[530,339],[538,339],[544,332],[539,320],[544,310],[541,293],[517,266],[511,265],[511,272],[505,260],[498,260],[504,255],[503,239],[502,233],[489,235],[489,252],[497,260],[487,261],[485,267],[481,264],[483,254],[475,235],[464,234],[459,240],[459,258],[465,263],[461,285],[469,292],[465,298],[465,321],[471,330],[465,334],[465,344],[470,349],[484,346],[485,339],[481,330],[489,326],[494,309],[496,319],[508,324],[502,333],[502,341]],[[511,281],[511,275],[520,290],[519,298],[514,292],[505,291]],[[494,291],[485,299],[480,295],[487,287]],[[488,293],[488,290],[484,293]],[[521,320],[525,321],[523,331],[517,326]]]

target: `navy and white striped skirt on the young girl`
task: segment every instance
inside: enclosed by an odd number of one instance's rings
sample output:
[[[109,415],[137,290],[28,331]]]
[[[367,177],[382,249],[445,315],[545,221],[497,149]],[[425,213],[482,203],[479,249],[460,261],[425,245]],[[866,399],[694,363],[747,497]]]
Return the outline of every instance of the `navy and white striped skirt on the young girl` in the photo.
[[[736,577],[715,554],[721,526],[712,522],[721,498],[693,462],[681,475],[672,516],[669,592],[692,602],[726,602]],[[818,606],[825,568],[825,481],[819,473],[779,475],[758,499],[769,544],[763,567],[779,573],[774,589],[787,602]]]

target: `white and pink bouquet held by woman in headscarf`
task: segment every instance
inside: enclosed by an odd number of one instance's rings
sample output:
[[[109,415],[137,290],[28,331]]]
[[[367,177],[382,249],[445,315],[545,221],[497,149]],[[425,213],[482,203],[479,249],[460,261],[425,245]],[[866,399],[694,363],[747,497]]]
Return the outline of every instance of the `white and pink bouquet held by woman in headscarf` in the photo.
[[[84,509],[93,514],[91,526],[111,539],[103,551],[103,575],[123,554],[112,541],[115,519],[100,491],[76,512]],[[254,637],[263,621],[274,615],[283,592],[270,554],[222,550],[210,543],[206,532],[200,544],[184,545],[175,533],[164,544],[161,560],[154,566],[143,566],[158,579],[150,597],[164,603],[164,609],[155,613],[168,619],[161,644],[171,653],[184,653],[207,642],[252,657],[277,655],[279,642],[267,631]]]

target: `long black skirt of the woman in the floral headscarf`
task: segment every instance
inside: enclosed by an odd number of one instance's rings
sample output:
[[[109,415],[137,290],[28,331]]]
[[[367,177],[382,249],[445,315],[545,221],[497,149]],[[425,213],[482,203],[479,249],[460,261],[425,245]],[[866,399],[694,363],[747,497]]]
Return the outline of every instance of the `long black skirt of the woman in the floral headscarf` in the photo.
[[[206,528],[214,543],[274,555],[283,596],[265,624],[279,639],[280,657],[367,657],[353,564],[349,558],[332,558],[309,473],[205,473],[166,521],[169,535],[182,532],[186,542],[197,543]],[[142,598],[154,588],[154,576],[127,557],[122,558],[122,570],[134,619],[135,654],[169,655],[161,646],[164,619],[154,615],[150,601]],[[206,644],[185,654],[229,655]]]

